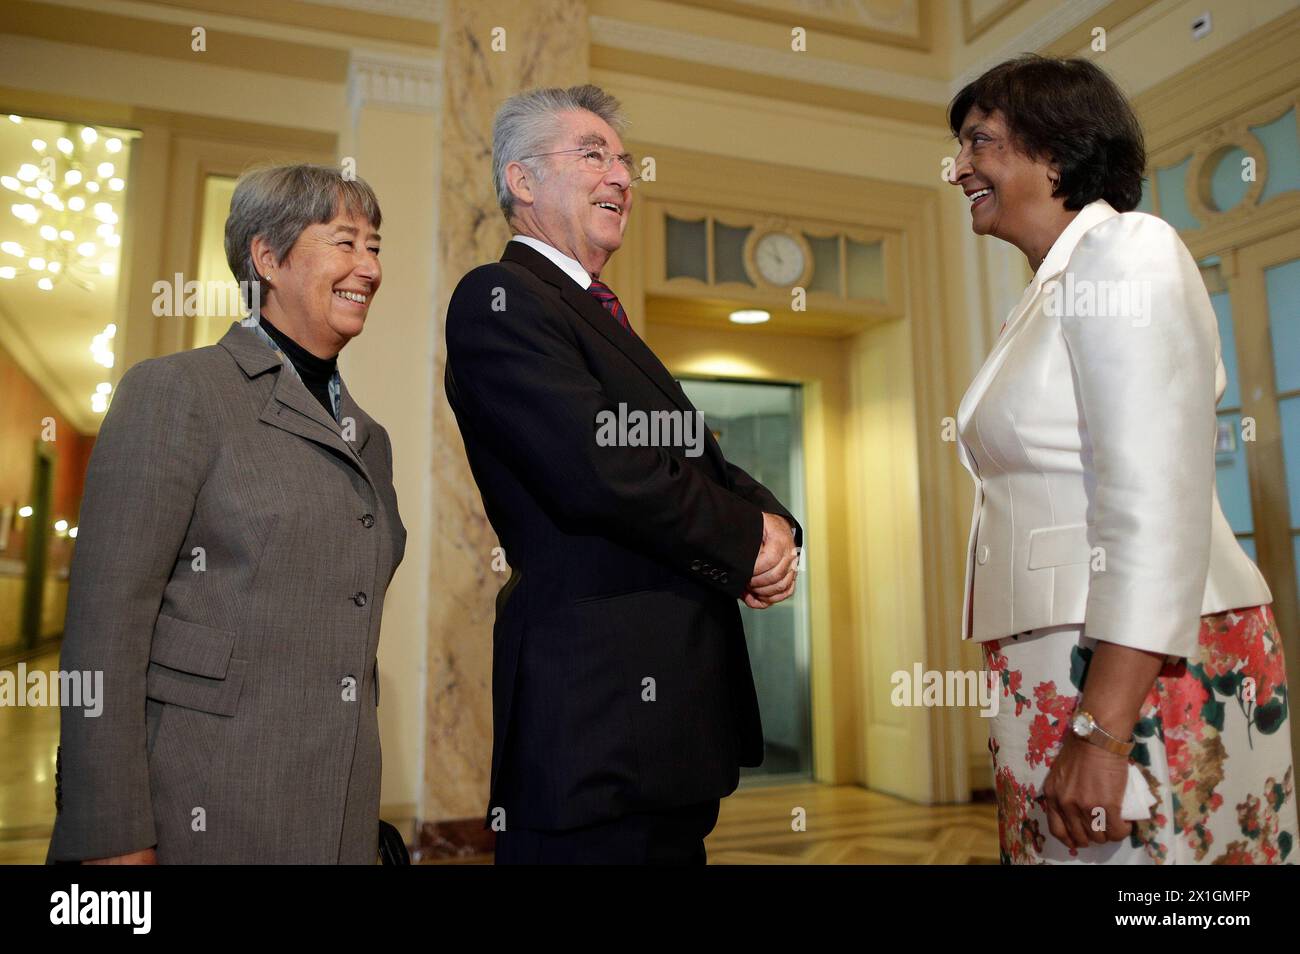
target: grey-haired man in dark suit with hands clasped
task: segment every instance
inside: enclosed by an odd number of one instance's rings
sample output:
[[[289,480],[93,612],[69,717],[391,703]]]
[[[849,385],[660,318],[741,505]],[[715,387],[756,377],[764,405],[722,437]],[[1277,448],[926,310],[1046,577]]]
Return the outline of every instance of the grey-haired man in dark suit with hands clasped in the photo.
[[[512,573],[497,599],[498,863],[703,863],[763,759],[738,598],[794,591],[800,528],[727,463],[598,277],[632,207],[619,104],[510,99],[515,237],[447,312],[446,390]],[[486,558],[485,558],[486,559]]]

